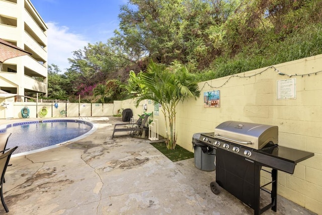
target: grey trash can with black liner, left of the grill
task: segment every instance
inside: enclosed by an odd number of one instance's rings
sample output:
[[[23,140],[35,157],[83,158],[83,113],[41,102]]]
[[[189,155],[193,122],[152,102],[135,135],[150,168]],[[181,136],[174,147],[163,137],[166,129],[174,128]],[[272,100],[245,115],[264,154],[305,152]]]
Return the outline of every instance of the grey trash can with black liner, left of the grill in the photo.
[[[200,134],[195,133],[192,137],[192,145],[195,151],[195,167],[203,171],[214,171],[216,169],[216,150],[200,141]]]

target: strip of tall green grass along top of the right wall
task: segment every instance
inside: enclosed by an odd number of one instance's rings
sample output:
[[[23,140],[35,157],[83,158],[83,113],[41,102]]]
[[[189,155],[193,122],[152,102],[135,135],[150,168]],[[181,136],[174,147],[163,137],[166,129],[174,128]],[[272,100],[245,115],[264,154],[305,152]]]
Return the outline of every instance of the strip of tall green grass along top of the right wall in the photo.
[[[218,57],[208,71],[197,74],[197,80],[207,81],[317,54],[322,54],[321,23],[295,30],[288,37],[270,42],[266,47],[245,47],[231,59]]]

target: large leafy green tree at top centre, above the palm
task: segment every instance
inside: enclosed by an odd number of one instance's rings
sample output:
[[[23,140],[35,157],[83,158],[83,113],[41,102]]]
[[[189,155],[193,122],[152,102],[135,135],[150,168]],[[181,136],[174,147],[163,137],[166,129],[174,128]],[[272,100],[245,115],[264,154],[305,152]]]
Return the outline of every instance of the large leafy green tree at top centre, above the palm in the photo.
[[[137,56],[205,67],[224,47],[221,25],[240,0],[130,0],[121,7],[120,41]]]

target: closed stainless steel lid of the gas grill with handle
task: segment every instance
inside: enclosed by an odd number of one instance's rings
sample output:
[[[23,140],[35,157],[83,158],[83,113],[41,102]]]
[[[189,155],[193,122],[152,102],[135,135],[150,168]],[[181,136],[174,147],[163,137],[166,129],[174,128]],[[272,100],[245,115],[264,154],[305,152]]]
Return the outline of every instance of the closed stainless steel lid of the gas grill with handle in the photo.
[[[215,128],[215,138],[253,149],[262,149],[269,142],[278,143],[278,127],[251,122],[225,121]]]

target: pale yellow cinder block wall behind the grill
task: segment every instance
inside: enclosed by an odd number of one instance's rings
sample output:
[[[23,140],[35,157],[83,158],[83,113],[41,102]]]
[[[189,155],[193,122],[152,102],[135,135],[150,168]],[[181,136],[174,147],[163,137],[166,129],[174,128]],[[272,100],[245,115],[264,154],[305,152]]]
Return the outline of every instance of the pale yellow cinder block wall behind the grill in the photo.
[[[321,71],[322,55],[316,55],[199,83],[200,98],[186,100],[177,109],[178,144],[192,151],[194,133],[211,132],[227,120],[277,125],[280,146],[315,153],[298,163],[293,175],[279,171],[278,193],[321,214]],[[296,99],[278,100],[277,81],[293,78]],[[213,90],[220,91],[220,108],[204,108],[203,93]]]

